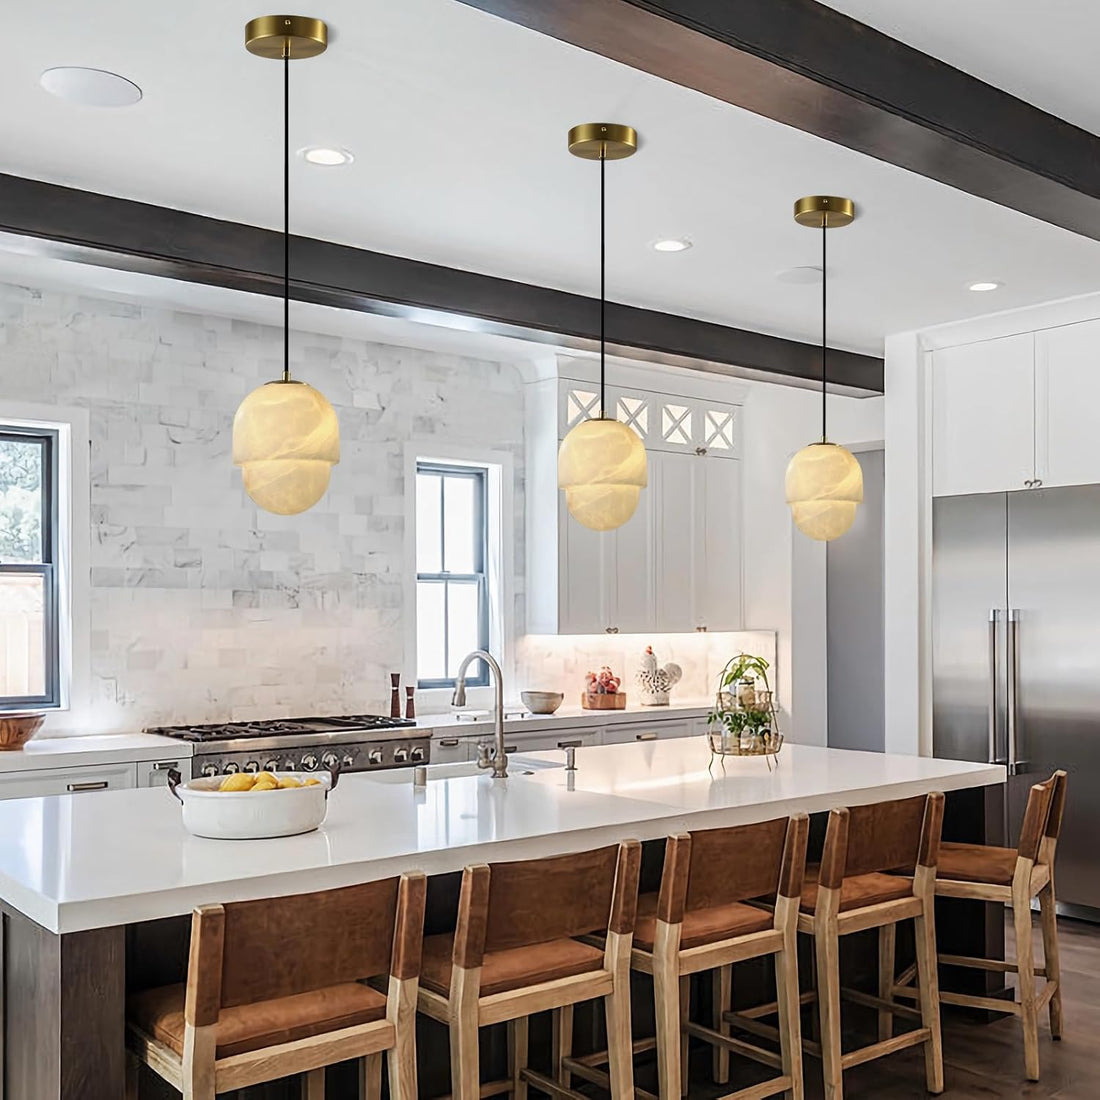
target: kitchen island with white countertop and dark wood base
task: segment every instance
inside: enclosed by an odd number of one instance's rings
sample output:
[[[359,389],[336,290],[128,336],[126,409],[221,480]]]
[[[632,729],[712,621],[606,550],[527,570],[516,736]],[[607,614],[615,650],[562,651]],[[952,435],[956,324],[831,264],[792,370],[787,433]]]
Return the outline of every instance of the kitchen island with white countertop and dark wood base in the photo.
[[[798,745],[784,747],[773,770],[759,758],[710,770],[708,761],[706,739],[685,738],[579,750],[574,772],[561,767],[563,754],[539,754],[512,760],[506,780],[454,774],[419,790],[407,771],[350,774],[320,829],[277,840],[189,836],[165,790],[0,803],[9,1100],[122,1094],[127,930],[141,922],[406,869],[444,875],[470,862],[1004,782],[993,765]],[[986,839],[985,823],[974,827],[971,838]],[[163,969],[144,961],[151,974]]]

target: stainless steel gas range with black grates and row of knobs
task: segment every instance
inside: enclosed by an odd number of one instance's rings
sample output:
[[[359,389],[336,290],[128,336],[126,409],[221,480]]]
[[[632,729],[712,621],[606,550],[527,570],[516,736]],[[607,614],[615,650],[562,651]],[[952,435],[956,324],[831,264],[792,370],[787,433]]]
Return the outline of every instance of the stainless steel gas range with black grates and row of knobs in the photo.
[[[238,771],[373,771],[428,763],[431,730],[373,714],[161,726],[147,734],[191,741],[191,778]]]

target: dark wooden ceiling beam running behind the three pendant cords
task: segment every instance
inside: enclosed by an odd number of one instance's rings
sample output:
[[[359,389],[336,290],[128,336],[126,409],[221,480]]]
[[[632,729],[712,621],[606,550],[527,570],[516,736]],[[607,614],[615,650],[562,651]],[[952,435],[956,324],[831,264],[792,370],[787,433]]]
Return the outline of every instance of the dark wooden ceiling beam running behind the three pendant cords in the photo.
[[[283,293],[282,234],[255,226],[0,175],[0,232],[28,252],[253,294]],[[431,320],[590,349],[595,298],[442,267],[330,241],[292,241],[292,296],[361,312]],[[634,306],[608,304],[613,351],[716,373],[812,382],[814,344]],[[829,380],[882,392],[882,360],[829,351]]]

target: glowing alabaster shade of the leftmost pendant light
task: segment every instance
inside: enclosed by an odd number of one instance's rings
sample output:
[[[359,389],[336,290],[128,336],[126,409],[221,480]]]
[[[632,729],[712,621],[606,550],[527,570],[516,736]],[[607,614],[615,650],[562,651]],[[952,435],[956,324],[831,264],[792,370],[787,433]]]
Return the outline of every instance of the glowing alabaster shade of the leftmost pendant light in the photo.
[[[233,463],[264,512],[294,516],[329,487],[340,461],[340,425],[324,395],[304,382],[268,382],[233,417]]]

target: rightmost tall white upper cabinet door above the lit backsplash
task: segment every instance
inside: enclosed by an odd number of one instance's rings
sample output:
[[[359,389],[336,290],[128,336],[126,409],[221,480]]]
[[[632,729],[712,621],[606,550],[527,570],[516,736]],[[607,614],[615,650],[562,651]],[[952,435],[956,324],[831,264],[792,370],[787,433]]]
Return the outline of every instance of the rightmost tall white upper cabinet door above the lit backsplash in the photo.
[[[736,459],[698,461],[702,539],[695,626],[741,629],[741,464]]]

